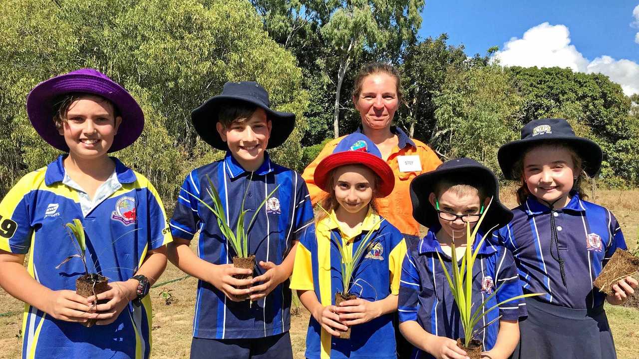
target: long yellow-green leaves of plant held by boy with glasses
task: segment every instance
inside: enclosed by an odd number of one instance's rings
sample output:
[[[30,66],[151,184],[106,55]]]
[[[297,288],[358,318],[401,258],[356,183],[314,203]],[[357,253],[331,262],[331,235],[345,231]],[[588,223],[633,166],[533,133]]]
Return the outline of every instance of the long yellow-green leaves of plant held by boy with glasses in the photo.
[[[482,326],[482,328],[479,328],[473,332],[473,328],[475,328],[475,325],[477,325],[477,323],[481,321],[482,317],[486,316],[486,314],[491,312],[491,310],[497,309],[500,305],[504,303],[512,302],[513,300],[518,300],[521,298],[527,298],[530,296],[538,296],[543,294],[543,293],[530,293],[530,294],[523,294],[520,296],[514,296],[512,298],[509,298],[507,300],[504,300],[502,302],[499,302],[493,305],[493,307],[490,307],[488,310],[483,310],[488,305],[489,300],[491,300],[493,296],[497,294],[499,289],[501,289],[501,287],[504,285],[504,284],[501,284],[500,286],[497,287],[497,289],[495,289],[495,291],[493,291],[493,293],[491,293],[488,296],[488,298],[486,298],[486,300],[484,300],[484,302],[481,303],[481,305],[479,305],[479,307],[475,308],[473,312],[473,308],[472,308],[473,264],[475,264],[475,259],[477,259],[477,255],[479,254],[479,249],[481,248],[482,243],[484,243],[484,240],[486,240],[486,237],[488,236],[488,234],[492,233],[495,227],[491,228],[489,231],[486,231],[486,234],[482,236],[481,241],[479,241],[474,251],[472,250],[472,247],[473,247],[473,243],[475,242],[475,237],[477,236],[477,231],[479,231],[479,227],[481,226],[481,223],[483,222],[484,217],[486,216],[486,213],[488,212],[488,209],[490,208],[490,205],[492,202],[493,202],[493,199],[491,199],[488,206],[486,206],[486,210],[484,211],[484,213],[482,213],[481,218],[479,218],[479,222],[477,222],[477,225],[475,225],[473,231],[470,230],[470,223],[466,223],[466,253],[461,258],[461,264],[459,264],[458,262],[457,254],[455,251],[455,239],[452,238],[452,243],[450,244],[450,247],[451,247],[450,256],[452,257],[452,268],[451,268],[452,275],[450,275],[449,271],[447,270],[440,253],[436,252],[437,257],[440,260],[440,264],[442,264],[442,268],[443,268],[444,274],[446,275],[448,284],[450,286],[452,297],[454,298],[455,303],[457,304],[457,307],[459,309],[459,318],[461,321],[461,326],[464,331],[463,344],[466,346],[466,348],[468,348],[468,346],[470,345],[470,341],[473,339],[475,333],[479,332],[483,328],[486,328],[486,326],[491,325],[493,322],[495,322],[496,320],[500,318],[500,317],[497,317],[497,319],[489,322],[488,324]]]

